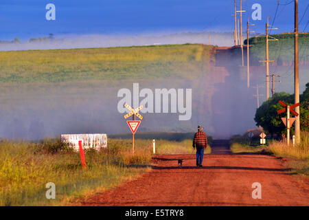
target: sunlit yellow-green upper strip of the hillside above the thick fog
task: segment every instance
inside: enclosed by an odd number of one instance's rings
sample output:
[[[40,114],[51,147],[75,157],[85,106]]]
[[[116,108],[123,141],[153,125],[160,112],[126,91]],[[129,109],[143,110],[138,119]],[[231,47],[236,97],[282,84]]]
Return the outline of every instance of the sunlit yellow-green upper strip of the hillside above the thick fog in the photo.
[[[187,78],[208,63],[212,48],[185,44],[0,52],[0,83]]]

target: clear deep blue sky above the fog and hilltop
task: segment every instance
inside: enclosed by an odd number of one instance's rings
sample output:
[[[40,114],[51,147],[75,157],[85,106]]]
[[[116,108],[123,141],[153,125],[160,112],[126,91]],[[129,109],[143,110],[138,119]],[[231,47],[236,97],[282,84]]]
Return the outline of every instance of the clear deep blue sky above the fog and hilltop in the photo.
[[[294,3],[279,0],[274,25],[292,31]],[[56,5],[56,21],[45,19],[45,5]],[[237,0],[239,5],[239,0]],[[262,20],[251,22],[255,30],[264,32],[266,17],[273,17],[277,0],[243,0],[243,28],[251,17],[253,3],[262,5]],[[299,20],[308,0],[299,0]],[[249,13],[248,13],[249,12]],[[145,34],[162,32],[233,31],[233,0],[1,0],[0,39],[11,40],[63,34]],[[309,9],[300,23],[305,28]],[[309,30],[309,25],[306,31]],[[277,31],[273,31],[277,32]]]

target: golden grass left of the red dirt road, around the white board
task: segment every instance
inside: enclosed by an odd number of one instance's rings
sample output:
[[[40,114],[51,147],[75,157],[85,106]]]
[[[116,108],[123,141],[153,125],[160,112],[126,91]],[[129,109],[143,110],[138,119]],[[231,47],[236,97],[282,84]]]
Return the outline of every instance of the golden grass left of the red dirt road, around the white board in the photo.
[[[192,140],[158,140],[157,153],[192,153]],[[79,153],[59,139],[40,143],[0,142],[0,206],[57,206],[105,190],[151,170],[152,140],[108,139],[104,151],[87,151],[87,168]],[[207,153],[210,153],[208,148]],[[45,184],[56,185],[56,199],[46,199]]]

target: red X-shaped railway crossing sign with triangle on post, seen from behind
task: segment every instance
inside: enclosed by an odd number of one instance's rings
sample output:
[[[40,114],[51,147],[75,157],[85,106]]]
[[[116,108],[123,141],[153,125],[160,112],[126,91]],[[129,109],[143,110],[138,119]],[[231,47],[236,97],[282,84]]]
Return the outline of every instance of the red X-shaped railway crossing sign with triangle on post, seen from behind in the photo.
[[[284,125],[286,126],[286,143],[290,145],[290,126],[292,126],[293,122],[295,122],[296,118],[290,118],[290,113],[293,113],[296,117],[299,115],[296,111],[293,109],[295,107],[299,107],[299,103],[293,104],[291,106],[287,105],[286,103],[282,102],[282,100],[279,100],[279,104],[284,107],[283,109],[280,109],[277,111],[277,114],[284,113],[286,111],[286,118],[281,118],[282,122],[284,122]]]

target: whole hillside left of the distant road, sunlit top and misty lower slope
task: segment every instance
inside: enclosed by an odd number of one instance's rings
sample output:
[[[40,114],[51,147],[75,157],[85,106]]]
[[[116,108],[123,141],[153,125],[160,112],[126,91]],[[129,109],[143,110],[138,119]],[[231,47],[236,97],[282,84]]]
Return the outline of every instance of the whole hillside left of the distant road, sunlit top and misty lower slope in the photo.
[[[209,79],[213,49],[187,44],[0,52],[0,137],[127,133],[117,92],[132,91],[133,83],[152,91],[193,89],[191,120],[144,113],[139,131],[192,132],[198,123],[214,131],[206,117],[215,91]]]

